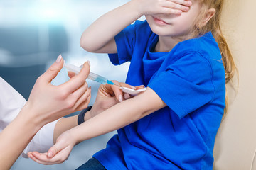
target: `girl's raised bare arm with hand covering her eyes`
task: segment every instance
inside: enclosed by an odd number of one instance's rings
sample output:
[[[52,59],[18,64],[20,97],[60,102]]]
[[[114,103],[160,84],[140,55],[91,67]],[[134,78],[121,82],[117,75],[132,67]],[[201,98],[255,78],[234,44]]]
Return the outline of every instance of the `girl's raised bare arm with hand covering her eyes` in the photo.
[[[89,52],[116,53],[114,36],[143,15],[181,14],[188,11],[188,0],[132,0],[106,13],[89,26],[80,46]]]

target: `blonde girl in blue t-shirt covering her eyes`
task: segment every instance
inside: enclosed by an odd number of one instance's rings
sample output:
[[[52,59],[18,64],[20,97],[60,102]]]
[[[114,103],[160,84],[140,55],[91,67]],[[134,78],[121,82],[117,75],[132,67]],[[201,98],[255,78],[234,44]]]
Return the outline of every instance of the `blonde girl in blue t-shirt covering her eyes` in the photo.
[[[147,89],[98,115],[92,107],[48,157],[33,154],[34,160],[65,160],[76,143],[117,130],[106,149],[78,169],[213,169],[225,82],[235,65],[220,30],[224,1],[191,1],[188,11],[170,14],[171,1],[132,0],[85,30],[85,50],[111,53],[113,64],[130,61],[127,84]],[[142,15],[146,21],[136,21]]]

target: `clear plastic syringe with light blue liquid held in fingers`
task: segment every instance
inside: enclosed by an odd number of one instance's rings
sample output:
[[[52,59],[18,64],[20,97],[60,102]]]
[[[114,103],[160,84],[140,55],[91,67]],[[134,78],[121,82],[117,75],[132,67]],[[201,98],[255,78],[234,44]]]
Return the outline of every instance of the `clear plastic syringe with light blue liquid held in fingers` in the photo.
[[[70,72],[74,72],[75,74],[78,74],[80,72],[80,69],[82,69],[82,68],[77,67],[77,66],[75,66],[73,64],[68,64],[68,63],[65,63],[65,62],[64,62],[64,66],[63,67],[68,69],[68,71],[70,71]],[[93,81],[97,81],[100,84],[111,84],[111,85],[114,85],[114,83],[112,81],[109,81],[105,77],[102,77],[102,76],[97,75],[97,74],[92,73],[92,72],[89,73],[87,78],[91,79]]]

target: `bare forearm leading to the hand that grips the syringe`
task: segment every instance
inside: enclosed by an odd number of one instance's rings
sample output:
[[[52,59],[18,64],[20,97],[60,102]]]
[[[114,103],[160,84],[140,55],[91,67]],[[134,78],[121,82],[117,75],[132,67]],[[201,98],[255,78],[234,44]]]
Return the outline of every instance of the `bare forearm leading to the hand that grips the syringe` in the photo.
[[[24,107],[18,116],[0,133],[0,169],[10,169],[41,124]],[[26,113],[23,115],[23,113]]]

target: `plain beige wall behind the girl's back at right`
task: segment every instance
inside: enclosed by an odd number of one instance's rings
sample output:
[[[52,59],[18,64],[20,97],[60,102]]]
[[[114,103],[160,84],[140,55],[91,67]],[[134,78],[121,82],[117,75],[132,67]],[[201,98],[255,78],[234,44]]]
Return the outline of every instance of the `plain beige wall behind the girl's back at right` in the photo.
[[[236,96],[229,91],[230,108],[215,141],[214,169],[249,170],[256,149],[256,1],[229,0],[223,16],[239,88]]]

